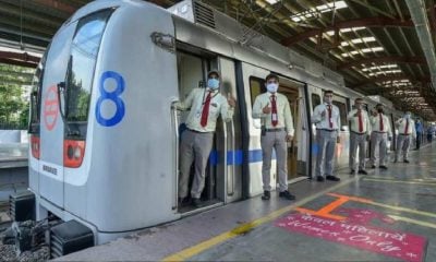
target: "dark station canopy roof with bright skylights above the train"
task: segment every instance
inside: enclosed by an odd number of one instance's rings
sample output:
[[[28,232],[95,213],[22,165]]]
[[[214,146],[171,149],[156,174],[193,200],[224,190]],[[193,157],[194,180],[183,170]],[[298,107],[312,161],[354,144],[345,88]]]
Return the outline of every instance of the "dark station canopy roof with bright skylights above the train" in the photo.
[[[0,0],[0,62],[35,68],[61,24],[88,2]],[[348,87],[436,120],[434,0],[202,2],[341,73]]]

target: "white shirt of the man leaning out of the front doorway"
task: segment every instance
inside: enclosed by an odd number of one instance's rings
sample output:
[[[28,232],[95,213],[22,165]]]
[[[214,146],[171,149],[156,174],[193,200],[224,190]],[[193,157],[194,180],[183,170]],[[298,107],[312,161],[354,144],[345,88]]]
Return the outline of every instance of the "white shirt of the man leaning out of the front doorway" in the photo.
[[[184,102],[179,102],[175,104],[175,108],[179,110],[187,110],[191,108],[186,119],[186,127],[189,129],[198,132],[215,132],[217,119],[220,114],[221,118],[226,122],[231,121],[233,117],[233,108],[229,106],[225,96],[222,96],[218,91],[213,91],[207,123],[205,127],[202,127],[201,120],[203,106],[206,102],[208,91],[208,88],[195,88],[190,93]]]

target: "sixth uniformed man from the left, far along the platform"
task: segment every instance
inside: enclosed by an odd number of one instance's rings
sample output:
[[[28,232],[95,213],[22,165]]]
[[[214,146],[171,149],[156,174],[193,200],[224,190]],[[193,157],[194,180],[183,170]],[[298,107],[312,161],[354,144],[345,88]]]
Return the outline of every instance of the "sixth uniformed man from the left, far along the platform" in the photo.
[[[416,131],[415,131],[415,122],[410,118],[411,112],[407,111],[404,117],[398,119],[396,124],[398,127],[398,138],[397,138],[397,150],[396,150],[396,158],[395,163],[397,163],[400,158],[400,152],[402,151],[402,159],[404,163],[409,163],[408,155],[409,155],[409,147],[410,147],[410,140],[411,136],[416,139]]]

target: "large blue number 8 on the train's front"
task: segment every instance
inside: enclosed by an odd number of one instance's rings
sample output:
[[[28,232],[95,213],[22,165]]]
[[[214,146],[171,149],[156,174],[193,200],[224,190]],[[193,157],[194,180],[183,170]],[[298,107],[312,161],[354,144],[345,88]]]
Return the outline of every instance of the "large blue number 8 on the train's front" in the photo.
[[[113,92],[107,92],[105,90],[105,82],[108,79],[113,79],[117,82],[117,87]],[[101,74],[98,88],[101,96],[98,97],[96,106],[97,122],[104,127],[113,127],[123,119],[125,112],[124,102],[119,97],[124,91],[124,79],[117,72],[106,71]],[[106,99],[113,102],[117,106],[114,116],[109,119],[101,116],[101,103]]]

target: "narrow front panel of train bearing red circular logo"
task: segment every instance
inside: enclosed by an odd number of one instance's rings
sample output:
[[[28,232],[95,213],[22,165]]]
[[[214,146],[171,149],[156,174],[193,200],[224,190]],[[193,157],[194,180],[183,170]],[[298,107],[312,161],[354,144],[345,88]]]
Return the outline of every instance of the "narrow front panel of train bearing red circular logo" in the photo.
[[[62,41],[53,40],[50,50],[47,53],[45,75],[41,86],[41,123],[40,124],[40,158],[38,160],[39,194],[59,209],[65,206],[65,174],[64,174],[64,132],[65,123],[63,96],[60,94],[61,86],[65,86],[71,62],[61,63],[63,67],[50,68],[51,60],[71,61],[71,45],[75,35],[77,22],[68,24],[62,31],[59,31],[55,38],[61,38]],[[55,63],[57,64],[57,63]],[[44,143],[50,141],[50,143]],[[37,210],[37,216],[44,216],[45,211]]]

